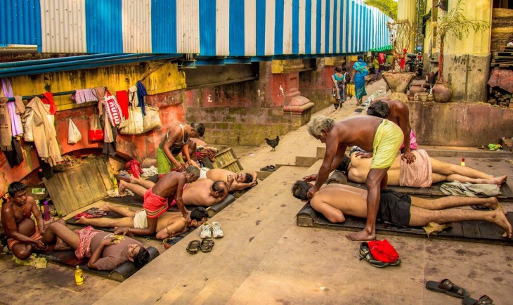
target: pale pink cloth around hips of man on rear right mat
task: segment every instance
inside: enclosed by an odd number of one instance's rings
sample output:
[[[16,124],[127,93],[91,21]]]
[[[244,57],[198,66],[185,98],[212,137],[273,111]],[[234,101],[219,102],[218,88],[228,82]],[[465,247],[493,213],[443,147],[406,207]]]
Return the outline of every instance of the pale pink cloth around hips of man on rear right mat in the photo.
[[[415,162],[408,164],[401,159],[401,174],[399,175],[399,186],[410,186],[412,188],[429,188],[433,183],[433,169],[431,160],[425,150],[413,150]]]

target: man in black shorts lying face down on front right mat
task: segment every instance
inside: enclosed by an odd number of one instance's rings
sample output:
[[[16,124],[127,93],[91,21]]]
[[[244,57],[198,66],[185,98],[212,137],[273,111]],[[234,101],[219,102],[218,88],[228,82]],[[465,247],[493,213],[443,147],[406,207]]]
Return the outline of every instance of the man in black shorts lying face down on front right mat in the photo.
[[[307,193],[311,184],[296,181],[292,186],[292,195],[300,200],[308,200]],[[332,223],[344,222],[344,214],[365,218],[367,216],[367,190],[343,184],[328,184],[318,190],[310,200],[310,205],[322,213]],[[493,211],[475,211],[451,209],[465,205],[482,205]],[[377,219],[396,226],[427,226],[430,222],[439,224],[482,220],[495,223],[505,233],[502,237],[512,238],[512,226],[497,198],[478,197],[441,197],[426,200],[410,197],[394,190],[381,190]]]

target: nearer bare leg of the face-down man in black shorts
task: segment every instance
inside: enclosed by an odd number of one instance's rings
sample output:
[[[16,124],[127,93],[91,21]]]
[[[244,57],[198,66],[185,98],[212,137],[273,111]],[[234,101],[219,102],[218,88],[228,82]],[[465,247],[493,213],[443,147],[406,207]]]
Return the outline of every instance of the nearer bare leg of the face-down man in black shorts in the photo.
[[[474,211],[469,209],[443,209],[431,211],[420,207],[410,208],[410,226],[426,226],[429,222],[450,223],[468,220],[482,220],[495,223],[505,231],[502,237],[512,238],[513,229],[506,216],[499,210],[491,212]]]

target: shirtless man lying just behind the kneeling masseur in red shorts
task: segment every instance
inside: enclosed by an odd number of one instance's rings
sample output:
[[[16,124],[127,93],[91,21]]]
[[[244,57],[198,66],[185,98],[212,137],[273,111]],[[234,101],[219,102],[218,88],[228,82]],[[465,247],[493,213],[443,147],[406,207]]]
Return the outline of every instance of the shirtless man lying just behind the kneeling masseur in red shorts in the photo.
[[[195,168],[197,169],[197,167]],[[233,177],[230,176],[227,179],[230,181],[229,183],[233,183]],[[210,179],[198,179],[193,183],[188,183],[183,186],[183,193],[181,194],[183,204],[197,205],[200,207],[216,205],[223,201],[226,195],[228,195],[229,183],[224,181],[214,182]],[[155,183],[152,181],[131,178],[130,182],[119,181],[119,193],[122,193],[125,189],[129,189],[135,194],[143,196],[146,190],[152,188],[154,185]],[[175,205],[175,202],[171,202],[171,205]]]

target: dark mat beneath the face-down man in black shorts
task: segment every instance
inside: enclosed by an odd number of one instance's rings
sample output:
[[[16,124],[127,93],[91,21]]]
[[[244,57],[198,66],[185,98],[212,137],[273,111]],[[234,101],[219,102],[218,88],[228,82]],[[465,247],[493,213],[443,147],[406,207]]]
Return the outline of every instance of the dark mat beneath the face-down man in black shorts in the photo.
[[[346,215],[344,215],[344,217],[346,220],[343,223],[332,223],[327,220],[323,214],[316,212],[311,205],[307,203],[297,213],[297,226],[344,231],[361,231],[365,227],[365,219]],[[513,213],[508,213],[507,219],[509,223],[513,223]],[[513,240],[502,238],[502,229],[488,221],[462,221],[449,223],[449,225],[451,228],[437,235],[431,235],[430,238],[513,246]],[[417,238],[427,237],[423,228],[399,228],[386,223],[376,223],[376,233]]]

